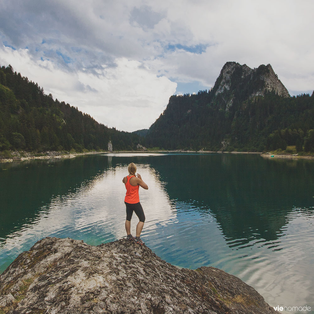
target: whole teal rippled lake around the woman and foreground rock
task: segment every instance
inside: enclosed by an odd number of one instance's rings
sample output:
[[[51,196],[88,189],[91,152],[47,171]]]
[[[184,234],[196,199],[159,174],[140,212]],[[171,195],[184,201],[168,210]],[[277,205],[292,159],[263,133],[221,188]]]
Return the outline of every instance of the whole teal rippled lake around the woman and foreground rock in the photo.
[[[134,153],[1,163],[0,272],[46,236],[91,245],[126,236],[130,162],[149,186],[139,191],[142,239],[159,257],[223,269],[270,306],[314,308],[313,160]],[[137,222],[133,214],[133,234]]]

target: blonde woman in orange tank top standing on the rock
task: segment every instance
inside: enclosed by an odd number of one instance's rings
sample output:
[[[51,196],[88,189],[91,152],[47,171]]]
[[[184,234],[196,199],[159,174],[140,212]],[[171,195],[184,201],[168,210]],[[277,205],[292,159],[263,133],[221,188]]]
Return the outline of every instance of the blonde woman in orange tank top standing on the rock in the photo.
[[[127,231],[127,240],[134,241],[137,244],[145,244],[141,239],[140,235],[144,226],[145,215],[141,203],[139,202],[138,189],[143,187],[143,189],[148,190],[147,184],[142,180],[141,175],[136,172],[136,165],[132,162],[128,167],[129,175],[124,177],[122,182],[125,184],[127,189],[124,203],[127,210],[127,219],[125,221],[125,230]],[[131,235],[131,218],[133,211],[138,216],[139,222],[136,226],[136,237]]]

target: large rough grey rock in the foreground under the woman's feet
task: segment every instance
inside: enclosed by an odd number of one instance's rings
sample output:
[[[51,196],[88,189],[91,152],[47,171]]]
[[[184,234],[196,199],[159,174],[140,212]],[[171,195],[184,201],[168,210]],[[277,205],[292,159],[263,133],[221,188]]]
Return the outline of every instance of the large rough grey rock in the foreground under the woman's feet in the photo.
[[[0,313],[278,313],[212,267],[178,269],[122,239],[90,246],[45,238],[0,276]]]

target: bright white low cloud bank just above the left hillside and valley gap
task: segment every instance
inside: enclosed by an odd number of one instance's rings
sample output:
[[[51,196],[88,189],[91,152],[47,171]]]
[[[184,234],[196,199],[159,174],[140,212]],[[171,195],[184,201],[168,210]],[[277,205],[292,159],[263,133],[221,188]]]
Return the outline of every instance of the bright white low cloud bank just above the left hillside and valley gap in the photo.
[[[126,58],[116,59],[116,67],[104,66],[95,75],[62,71],[47,60],[34,62],[27,49],[14,51],[3,46],[0,53],[1,64],[14,64],[14,70],[39,82],[46,94],[123,131],[148,128],[176,90],[176,83]]]

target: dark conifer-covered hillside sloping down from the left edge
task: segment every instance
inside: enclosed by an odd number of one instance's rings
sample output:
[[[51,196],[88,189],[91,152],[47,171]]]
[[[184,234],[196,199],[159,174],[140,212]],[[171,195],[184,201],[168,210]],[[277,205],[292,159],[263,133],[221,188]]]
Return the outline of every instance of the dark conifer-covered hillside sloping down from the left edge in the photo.
[[[136,149],[141,137],[96,122],[88,114],[46,95],[13,68],[0,68],[0,150]]]

